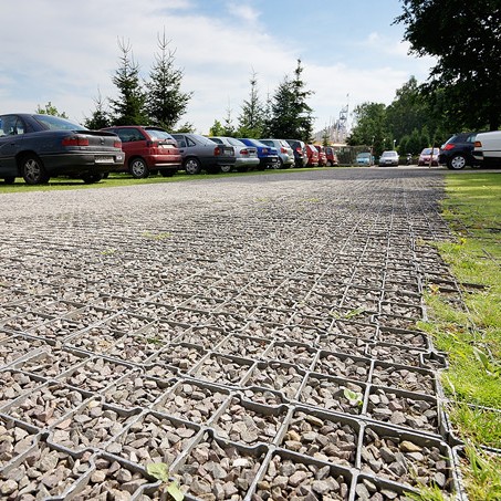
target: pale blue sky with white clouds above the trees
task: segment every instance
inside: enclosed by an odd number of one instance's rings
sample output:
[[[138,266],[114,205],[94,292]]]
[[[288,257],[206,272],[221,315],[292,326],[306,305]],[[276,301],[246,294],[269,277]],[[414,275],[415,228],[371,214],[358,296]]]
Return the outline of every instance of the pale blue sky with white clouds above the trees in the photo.
[[[198,133],[228,116],[237,125],[252,75],[264,102],[299,59],[314,131],[346,107],[349,127],[357,105],[388,105],[410,76],[429,75],[432,60],[409,55],[394,24],[400,13],[400,0],[2,1],[0,114],[51,102],[83,123],[100,97],[118,97],[119,45],[147,79],[165,30],[181,91],[192,93],[180,123]]]

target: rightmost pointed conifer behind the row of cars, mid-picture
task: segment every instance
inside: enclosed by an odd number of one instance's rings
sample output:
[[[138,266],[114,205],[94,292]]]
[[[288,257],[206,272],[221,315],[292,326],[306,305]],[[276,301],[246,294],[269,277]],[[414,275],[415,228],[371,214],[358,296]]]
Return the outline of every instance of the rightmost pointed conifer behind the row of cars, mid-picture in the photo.
[[[301,60],[294,70],[294,79],[288,75],[279,84],[270,105],[269,118],[265,121],[268,135],[288,137],[311,143],[313,135],[312,108],[306,104],[312,91],[304,88],[301,80]]]

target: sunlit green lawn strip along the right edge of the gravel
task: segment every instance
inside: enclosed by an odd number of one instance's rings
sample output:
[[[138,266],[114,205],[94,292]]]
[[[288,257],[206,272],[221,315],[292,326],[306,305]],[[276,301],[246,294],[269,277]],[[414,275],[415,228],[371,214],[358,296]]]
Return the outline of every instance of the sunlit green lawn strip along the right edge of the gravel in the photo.
[[[461,284],[466,307],[429,288],[420,327],[447,352],[442,384],[455,434],[466,443],[462,473],[471,501],[501,499],[501,175],[446,176],[442,213],[457,236],[436,243]],[[484,446],[486,448],[482,448]]]

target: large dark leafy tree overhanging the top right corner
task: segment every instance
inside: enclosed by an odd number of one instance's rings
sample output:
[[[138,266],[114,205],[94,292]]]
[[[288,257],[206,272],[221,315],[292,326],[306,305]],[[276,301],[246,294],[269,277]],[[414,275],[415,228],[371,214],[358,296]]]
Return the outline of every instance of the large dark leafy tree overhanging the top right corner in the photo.
[[[428,92],[441,90],[450,114],[466,127],[501,125],[501,9],[499,0],[403,0],[410,52],[431,55]]]

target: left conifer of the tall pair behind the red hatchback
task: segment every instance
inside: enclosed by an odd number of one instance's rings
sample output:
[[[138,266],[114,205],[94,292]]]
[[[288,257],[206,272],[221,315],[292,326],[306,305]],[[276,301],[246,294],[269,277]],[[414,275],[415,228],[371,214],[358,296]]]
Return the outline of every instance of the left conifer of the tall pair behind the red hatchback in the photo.
[[[148,122],[145,111],[146,93],[139,82],[139,65],[134,61],[131,45],[118,42],[121,66],[112,79],[121,98],[109,100],[115,125],[144,125]]]

